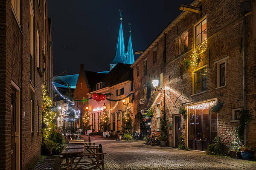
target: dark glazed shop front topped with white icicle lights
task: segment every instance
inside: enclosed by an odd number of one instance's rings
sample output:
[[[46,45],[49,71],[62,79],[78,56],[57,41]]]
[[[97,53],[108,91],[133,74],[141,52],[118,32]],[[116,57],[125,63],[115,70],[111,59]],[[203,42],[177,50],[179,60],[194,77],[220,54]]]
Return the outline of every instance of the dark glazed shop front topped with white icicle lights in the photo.
[[[192,150],[207,150],[218,135],[217,113],[210,113],[210,106],[216,101],[187,106],[188,145]]]

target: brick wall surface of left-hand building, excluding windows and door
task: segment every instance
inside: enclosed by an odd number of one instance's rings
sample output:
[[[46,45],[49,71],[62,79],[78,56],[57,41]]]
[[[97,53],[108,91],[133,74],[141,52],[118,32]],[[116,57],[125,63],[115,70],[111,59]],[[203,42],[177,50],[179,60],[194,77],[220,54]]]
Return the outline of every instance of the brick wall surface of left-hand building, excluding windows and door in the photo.
[[[49,72],[48,54],[48,20],[47,20],[47,2],[34,1],[34,56],[40,53],[40,71],[36,68],[36,59],[34,57],[34,86],[30,83],[30,49],[29,49],[29,1],[20,3],[20,21],[15,19],[15,13],[12,11],[11,0],[0,1],[1,8],[1,39],[0,39],[0,86],[1,86],[1,143],[0,143],[0,169],[11,169],[11,91],[12,81],[20,88],[20,169],[26,170],[29,165],[38,159],[41,153],[41,108],[42,108],[42,89],[43,84],[43,49],[41,48],[46,39],[46,65]],[[3,12],[2,12],[3,11]],[[47,29],[44,38],[44,12],[46,12]],[[2,15],[3,14],[3,15]],[[36,51],[36,30],[40,36],[40,51]],[[49,76],[48,76],[49,78]],[[49,84],[50,85],[50,84]],[[48,85],[48,86],[49,86]],[[30,100],[34,101],[33,120],[31,120]],[[39,108],[39,130],[37,133],[37,106]],[[30,130],[30,123],[33,122],[33,133]]]

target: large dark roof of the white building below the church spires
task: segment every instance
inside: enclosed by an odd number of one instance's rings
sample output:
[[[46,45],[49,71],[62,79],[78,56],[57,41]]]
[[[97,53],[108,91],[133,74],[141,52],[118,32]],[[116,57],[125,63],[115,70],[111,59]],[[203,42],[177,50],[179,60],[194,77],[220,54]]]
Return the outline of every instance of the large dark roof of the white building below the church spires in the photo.
[[[121,82],[132,81],[133,69],[130,64],[117,63],[117,65],[99,81],[102,82],[102,88],[111,87]],[[96,90],[96,83],[92,91]]]

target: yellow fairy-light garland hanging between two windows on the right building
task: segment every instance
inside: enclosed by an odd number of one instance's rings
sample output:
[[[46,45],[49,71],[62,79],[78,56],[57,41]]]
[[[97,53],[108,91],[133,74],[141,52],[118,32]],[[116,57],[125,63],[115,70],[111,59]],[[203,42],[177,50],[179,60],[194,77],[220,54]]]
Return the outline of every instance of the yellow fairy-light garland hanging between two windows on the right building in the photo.
[[[191,67],[192,67],[192,71],[194,72],[195,69],[198,66],[198,63],[200,61],[200,57],[199,54],[203,53],[204,51],[207,50],[207,40],[205,40],[204,42],[202,42],[200,45],[196,46],[193,49],[193,53],[191,54]]]

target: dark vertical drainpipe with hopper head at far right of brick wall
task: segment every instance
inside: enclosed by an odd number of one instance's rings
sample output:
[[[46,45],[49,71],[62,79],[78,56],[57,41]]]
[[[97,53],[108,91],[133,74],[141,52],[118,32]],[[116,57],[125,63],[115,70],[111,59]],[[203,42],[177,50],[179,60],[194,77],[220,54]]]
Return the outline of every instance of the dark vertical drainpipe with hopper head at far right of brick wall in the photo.
[[[245,13],[250,11],[250,1],[246,0],[241,5],[241,12],[243,13],[243,105],[244,110],[246,110],[246,67],[245,67],[245,57],[246,57],[246,16]],[[244,145],[247,145],[247,134],[246,126],[244,128]]]

